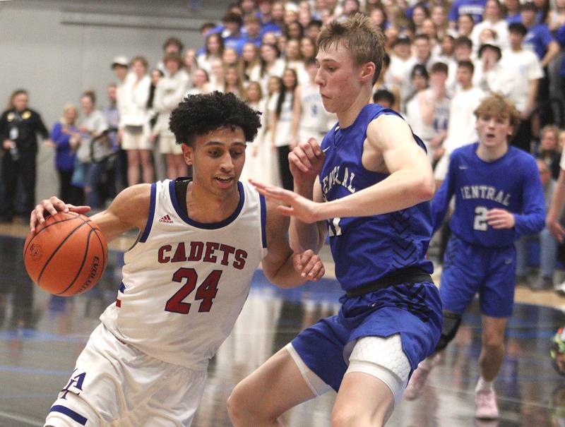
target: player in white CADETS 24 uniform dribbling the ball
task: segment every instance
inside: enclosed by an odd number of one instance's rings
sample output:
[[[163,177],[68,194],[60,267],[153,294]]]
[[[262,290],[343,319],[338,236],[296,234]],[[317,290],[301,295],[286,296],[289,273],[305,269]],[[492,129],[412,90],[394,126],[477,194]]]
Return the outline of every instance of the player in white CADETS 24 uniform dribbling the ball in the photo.
[[[209,359],[230,334],[259,263],[280,287],[323,275],[293,254],[288,219],[238,181],[258,112],[232,94],[190,95],[169,126],[192,179],[140,184],[92,217],[107,240],[139,229],[124,255],[117,301],[78,356],[45,426],[190,426]],[[87,212],[52,197],[30,217]]]

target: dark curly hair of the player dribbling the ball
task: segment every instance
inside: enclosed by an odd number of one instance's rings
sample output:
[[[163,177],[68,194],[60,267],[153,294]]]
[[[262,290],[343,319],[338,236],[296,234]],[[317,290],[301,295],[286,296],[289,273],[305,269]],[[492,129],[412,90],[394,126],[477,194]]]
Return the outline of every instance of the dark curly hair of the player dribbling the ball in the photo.
[[[242,128],[246,142],[252,142],[261,127],[260,115],[234,94],[216,90],[185,97],[172,111],[169,128],[177,144],[193,145],[196,136],[226,126]]]

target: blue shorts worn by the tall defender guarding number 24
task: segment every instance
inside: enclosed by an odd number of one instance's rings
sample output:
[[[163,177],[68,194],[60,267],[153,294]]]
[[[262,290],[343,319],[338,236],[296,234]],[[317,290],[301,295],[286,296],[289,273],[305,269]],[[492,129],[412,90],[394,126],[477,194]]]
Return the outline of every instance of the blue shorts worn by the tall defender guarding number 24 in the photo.
[[[441,300],[433,283],[398,284],[360,296],[344,295],[340,302],[337,315],[319,320],[292,340],[306,366],[336,392],[359,338],[400,334],[412,371],[436,347],[442,319]]]

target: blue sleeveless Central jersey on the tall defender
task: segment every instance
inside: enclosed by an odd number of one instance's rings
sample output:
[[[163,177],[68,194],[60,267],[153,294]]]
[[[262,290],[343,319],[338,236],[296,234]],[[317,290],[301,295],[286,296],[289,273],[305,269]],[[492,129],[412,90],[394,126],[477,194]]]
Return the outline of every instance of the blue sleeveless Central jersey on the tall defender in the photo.
[[[347,197],[388,176],[368,171],[361,162],[367,126],[381,114],[398,116],[391,109],[368,104],[352,125],[339,128],[336,124],[323,138],[326,160],[319,179],[325,200]],[[415,143],[425,150],[417,136]],[[335,275],[345,291],[403,267],[420,266],[433,272],[432,263],[424,258],[432,235],[429,202],[382,215],[331,218],[327,222]]]

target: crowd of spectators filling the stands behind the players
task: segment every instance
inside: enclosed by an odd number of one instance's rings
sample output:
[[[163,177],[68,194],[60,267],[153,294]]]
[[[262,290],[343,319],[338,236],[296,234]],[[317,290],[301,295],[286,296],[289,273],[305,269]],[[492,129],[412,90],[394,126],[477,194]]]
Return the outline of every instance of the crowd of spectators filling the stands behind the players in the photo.
[[[324,23],[357,11],[386,36],[374,102],[403,114],[424,140],[438,184],[450,153],[477,139],[473,112],[489,92],[501,92],[521,114],[512,144],[539,158],[547,182],[557,179],[565,142],[559,128],[564,126],[565,0],[239,0],[218,23],[202,25],[201,46],[185,47],[170,37],[153,63],[143,52],[117,57],[105,109],[97,108],[91,91],[81,95],[80,112],[72,103],[64,105],[47,139],[57,152],[60,196],[102,208],[124,186],[189,174],[168,128],[169,113],[184,96],[213,90],[233,92],[263,113],[242,179],[254,176],[292,188],[289,150],[299,140],[321,140],[335,124],[317,90],[316,37]],[[14,93],[0,119],[4,196],[14,197],[14,179],[5,177],[19,174],[32,200],[35,166],[28,163],[37,152],[35,133],[48,136],[40,116],[28,109],[27,93]],[[13,128],[20,129],[16,138]],[[94,159],[93,144],[105,155]],[[14,154],[18,151],[21,155]],[[13,203],[6,207],[0,213],[10,220]],[[547,238],[542,235],[542,258],[551,262],[542,260],[544,271],[534,288],[551,283],[547,276],[557,246],[546,244]],[[523,262],[521,280],[525,273]]]

